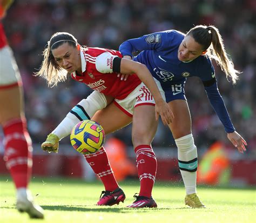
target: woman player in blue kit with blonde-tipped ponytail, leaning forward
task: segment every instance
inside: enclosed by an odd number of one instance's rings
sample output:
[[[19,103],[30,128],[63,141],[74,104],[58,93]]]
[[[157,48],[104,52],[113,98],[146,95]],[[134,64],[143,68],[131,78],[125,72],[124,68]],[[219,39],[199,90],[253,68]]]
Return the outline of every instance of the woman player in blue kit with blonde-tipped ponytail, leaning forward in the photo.
[[[223,39],[214,26],[198,25],[186,35],[177,30],[156,32],[126,40],[119,47],[124,58],[132,59],[132,53],[142,51],[133,60],[143,63],[164,90],[166,102],[174,119],[169,127],[178,147],[178,164],[186,188],[185,204],[205,207],[196,192],[197,147],[191,131],[191,116],[186,102],[184,84],[187,77],[199,77],[208,99],[223,123],[227,137],[238,151],[246,151],[246,141],[235,131],[220,96],[211,59],[231,78],[233,84],[239,71],[225,52]],[[126,77],[122,76],[122,79]]]

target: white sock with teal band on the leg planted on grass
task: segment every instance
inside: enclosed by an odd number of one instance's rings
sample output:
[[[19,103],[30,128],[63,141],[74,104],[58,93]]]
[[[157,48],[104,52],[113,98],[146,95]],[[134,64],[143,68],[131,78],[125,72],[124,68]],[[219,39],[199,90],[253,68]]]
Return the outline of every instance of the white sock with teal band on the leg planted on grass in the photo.
[[[186,194],[197,193],[197,147],[192,134],[175,140],[178,147],[178,163],[186,188]]]

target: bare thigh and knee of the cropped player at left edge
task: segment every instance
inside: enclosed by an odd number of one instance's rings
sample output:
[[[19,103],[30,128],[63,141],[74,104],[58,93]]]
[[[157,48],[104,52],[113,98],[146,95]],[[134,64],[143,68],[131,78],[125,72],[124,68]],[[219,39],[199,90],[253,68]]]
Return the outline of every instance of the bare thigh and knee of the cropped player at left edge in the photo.
[[[0,89],[0,123],[23,116],[23,97],[19,86]]]

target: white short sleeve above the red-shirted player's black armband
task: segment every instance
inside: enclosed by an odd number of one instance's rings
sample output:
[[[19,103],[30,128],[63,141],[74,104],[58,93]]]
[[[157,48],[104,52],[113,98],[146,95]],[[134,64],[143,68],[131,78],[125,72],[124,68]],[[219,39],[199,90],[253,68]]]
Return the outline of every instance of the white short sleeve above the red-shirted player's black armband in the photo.
[[[113,64],[114,58],[118,57],[117,55],[112,55],[110,52],[104,52],[96,58],[96,69],[100,73],[113,73]]]

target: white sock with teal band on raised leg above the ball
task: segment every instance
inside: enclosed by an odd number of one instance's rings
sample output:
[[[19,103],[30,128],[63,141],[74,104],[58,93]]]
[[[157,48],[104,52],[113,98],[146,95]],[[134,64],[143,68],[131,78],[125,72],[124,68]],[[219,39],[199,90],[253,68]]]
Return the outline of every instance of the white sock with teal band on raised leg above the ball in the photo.
[[[53,134],[59,137],[59,140],[69,136],[73,127],[79,121],[91,119],[96,111],[107,106],[106,98],[102,93],[93,91],[86,99],[81,100],[73,109],[66,115],[62,122],[52,131]]]

